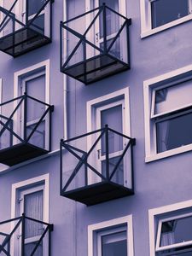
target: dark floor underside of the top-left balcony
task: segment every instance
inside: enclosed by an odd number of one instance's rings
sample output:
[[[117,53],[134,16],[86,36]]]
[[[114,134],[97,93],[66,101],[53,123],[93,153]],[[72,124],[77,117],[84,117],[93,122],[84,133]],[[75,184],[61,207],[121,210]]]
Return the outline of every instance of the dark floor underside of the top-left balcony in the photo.
[[[49,44],[50,41],[43,34],[25,27],[0,38],[0,50],[17,57],[44,44]]]

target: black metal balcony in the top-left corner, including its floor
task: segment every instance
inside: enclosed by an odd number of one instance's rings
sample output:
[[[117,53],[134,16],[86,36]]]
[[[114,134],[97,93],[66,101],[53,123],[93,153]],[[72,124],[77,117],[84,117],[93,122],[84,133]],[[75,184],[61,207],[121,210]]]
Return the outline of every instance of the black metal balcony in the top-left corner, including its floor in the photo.
[[[0,7],[0,50],[17,57],[49,44],[53,2],[24,0],[20,7],[20,0],[4,1]]]

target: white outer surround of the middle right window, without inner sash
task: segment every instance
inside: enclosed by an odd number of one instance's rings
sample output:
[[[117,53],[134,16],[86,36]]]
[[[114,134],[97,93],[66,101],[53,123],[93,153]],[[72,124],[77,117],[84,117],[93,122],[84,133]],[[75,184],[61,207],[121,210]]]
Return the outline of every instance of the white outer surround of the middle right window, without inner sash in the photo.
[[[179,75],[185,76],[185,73],[192,72],[192,65],[185,66],[182,68],[179,68],[177,70],[174,70],[170,73],[165,73],[163,75],[160,75],[158,77],[155,77],[153,79],[148,79],[143,82],[143,97],[144,97],[144,120],[145,120],[145,162],[150,162],[153,160],[159,160],[168,156],[172,156],[175,154],[181,154],[184,152],[187,152],[189,150],[192,150],[192,143],[189,145],[185,145],[183,147],[179,148],[173,148],[171,150],[167,150],[162,153],[156,153],[156,148],[154,148],[154,142],[153,137],[151,135],[151,125],[150,125],[150,119],[151,119],[151,88],[154,86],[154,84],[162,82],[166,79],[176,78]]]

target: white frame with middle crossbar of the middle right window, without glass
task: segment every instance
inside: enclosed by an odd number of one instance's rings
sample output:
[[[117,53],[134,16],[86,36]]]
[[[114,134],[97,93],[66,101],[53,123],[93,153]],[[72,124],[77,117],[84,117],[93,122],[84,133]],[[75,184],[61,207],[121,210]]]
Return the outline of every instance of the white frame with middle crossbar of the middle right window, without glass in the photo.
[[[143,82],[144,123],[145,123],[145,162],[159,160],[168,156],[181,154],[183,152],[192,150],[192,143],[190,143],[182,147],[172,148],[170,150],[157,153],[156,133],[155,133],[155,126],[154,126],[155,123],[153,121],[154,116],[151,115],[152,113],[151,107],[152,107],[152,104],[154,104],[153,90],[155,89],[159,90],[160,88],[162,89],[171,85],[174,86],[174,84],[178,84],[183,80],[188,80],[189,78],[192,79],[192,65],[179,68],[170,73],[165,73],[153,79],[145,80]],[[170,79],[173,79],[174,81],[166,83],[166,81],[169,81]],[[192,106],[192,103],[189,104],[188,107],[189,106]],[[182,108],[177,108],[177,110],[183,109],[184,111],[184,107],[186,107],[186,105],[183,105]],[[170,113],[170,111],[167,111],[167,113]],[[166,115],[166,113],[163,113],[163,114]],[[162,115],[162,113],[160,113],[160,115]],[[176,113],[176,115],[178,116],[179,113]],[[159,116],[159,114],[155,115],[155,117],[157,116]]]

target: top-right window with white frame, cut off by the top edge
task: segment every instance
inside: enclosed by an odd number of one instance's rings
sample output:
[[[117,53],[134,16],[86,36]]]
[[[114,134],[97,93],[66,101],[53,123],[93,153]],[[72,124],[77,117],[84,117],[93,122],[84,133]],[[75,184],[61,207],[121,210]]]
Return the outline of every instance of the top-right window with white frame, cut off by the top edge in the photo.
[[[190,20],[191,0],[140,0],[142,36]]]

